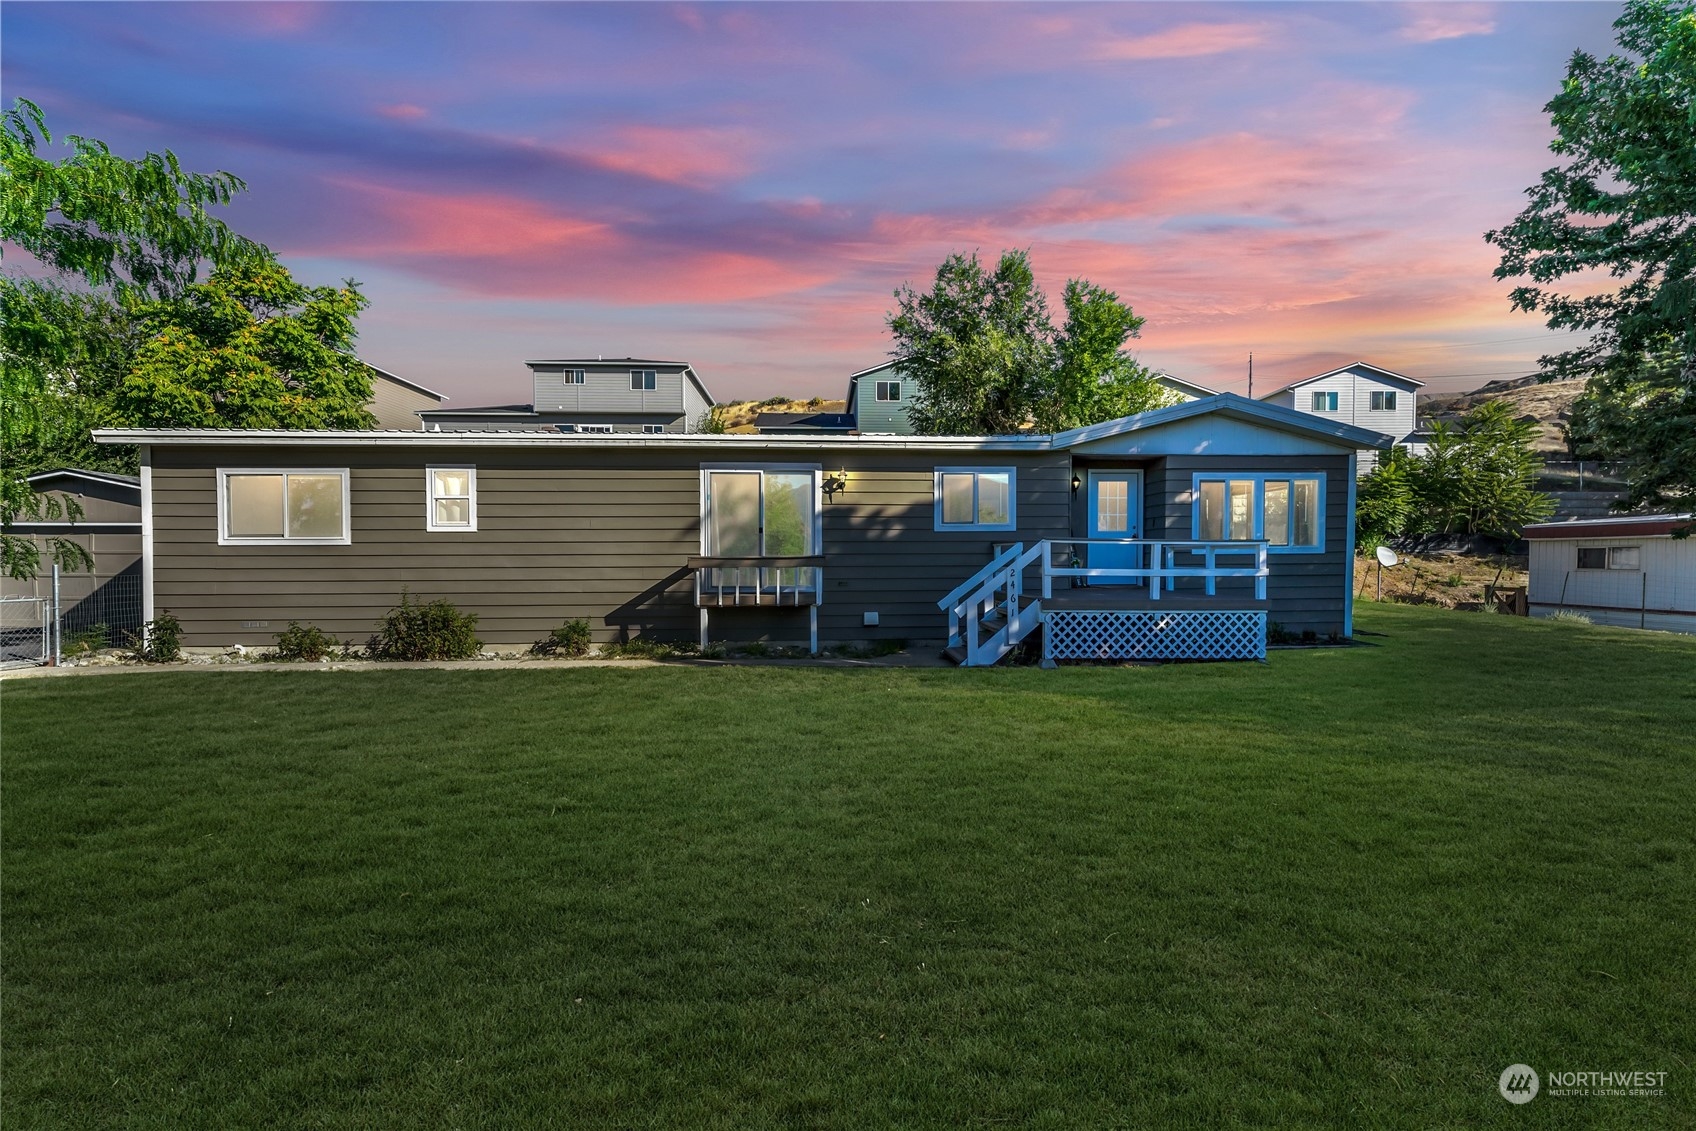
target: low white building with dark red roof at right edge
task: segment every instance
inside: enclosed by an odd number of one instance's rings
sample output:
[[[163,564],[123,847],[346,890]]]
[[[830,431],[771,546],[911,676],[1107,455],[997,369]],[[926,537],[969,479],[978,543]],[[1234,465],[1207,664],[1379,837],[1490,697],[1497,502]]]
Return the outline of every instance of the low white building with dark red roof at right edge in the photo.
[[[1696,632],[1696,538],[1688,514],[1620,515],[1525,527],[1533,617],[1562,609],[1596,624]]]

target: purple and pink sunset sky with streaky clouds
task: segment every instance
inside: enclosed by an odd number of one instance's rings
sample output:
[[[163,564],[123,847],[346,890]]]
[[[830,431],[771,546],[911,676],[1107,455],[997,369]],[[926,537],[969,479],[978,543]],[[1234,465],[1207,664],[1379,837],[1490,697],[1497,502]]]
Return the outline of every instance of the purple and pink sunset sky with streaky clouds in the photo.
[[[890,292],[1028,248],[1136,354],[1257,392],[1357,358],[1474,388],[1564,337],[1482,232],[1616,3],[19,3],[5,97],[249,185],[231,224],[358,278],[361,353],[455,405],[526,358],[840,397]]]

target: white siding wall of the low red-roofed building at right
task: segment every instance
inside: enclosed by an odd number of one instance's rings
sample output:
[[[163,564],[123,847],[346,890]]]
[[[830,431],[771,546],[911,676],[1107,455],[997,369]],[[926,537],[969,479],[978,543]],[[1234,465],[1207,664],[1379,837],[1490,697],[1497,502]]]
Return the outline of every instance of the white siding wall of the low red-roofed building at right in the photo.
[[[1533,605],[1696,612],[1696,539],[1538,538],[1530,546]],[[1643,568],[1579,570],[1579,546],[1642,546]]]

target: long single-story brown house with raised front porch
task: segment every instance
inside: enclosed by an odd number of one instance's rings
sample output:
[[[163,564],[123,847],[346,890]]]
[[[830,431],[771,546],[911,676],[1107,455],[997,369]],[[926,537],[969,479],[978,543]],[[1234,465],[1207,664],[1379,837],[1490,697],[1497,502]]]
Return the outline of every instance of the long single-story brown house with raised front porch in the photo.
[[[139,444],[149,616],[363,639],[400,592],[490,644],[948,643],[992,663],[1348,636],[1355,453],[1221,393],[1053,436],[103,429]]]

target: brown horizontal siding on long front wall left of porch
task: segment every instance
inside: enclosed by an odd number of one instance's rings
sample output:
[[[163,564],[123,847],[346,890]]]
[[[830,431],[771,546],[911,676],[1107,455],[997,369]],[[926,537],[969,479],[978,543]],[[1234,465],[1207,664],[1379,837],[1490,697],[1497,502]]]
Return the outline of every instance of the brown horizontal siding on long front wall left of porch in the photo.
[[[996,543],[1060,538],[1070,488],[1063,453],[977,458],[928,453],[773,451],[770,463],[846,470],[824,502],[826,641],[940,639],[936,600],[980,568]],[[424,466],[477,466],[478,529],[424,531]],[[521,644],[573,617],[600,641],[694,638],[683,561],[700,551],[700,465],[689,449],[573,453],[443,446],[395,449],[156,448],[154,597],[185,643],[265,644],[288,621],[363,639],[402,587],[478,614],[492,644]],[[1019,532],[936,532],[934,466],[1018,466]],[[217,466],[346,466],[351,546],[219,546]],[[867,610],[880,614],[863,627]],[[244,622],[263,622],[244,626]],[[806,639],[807,612],[714,610],[717,639]]]

